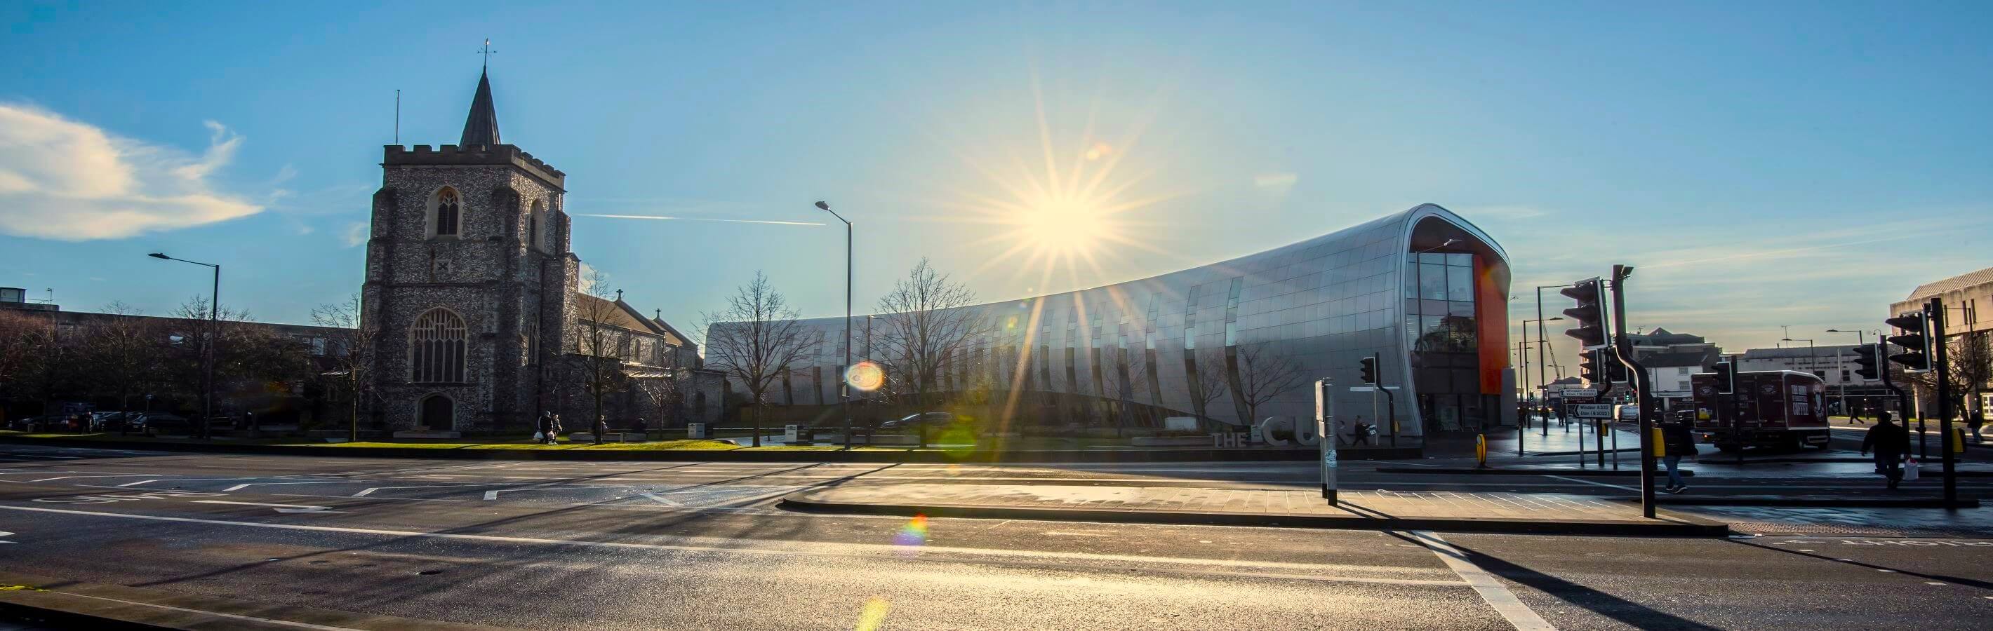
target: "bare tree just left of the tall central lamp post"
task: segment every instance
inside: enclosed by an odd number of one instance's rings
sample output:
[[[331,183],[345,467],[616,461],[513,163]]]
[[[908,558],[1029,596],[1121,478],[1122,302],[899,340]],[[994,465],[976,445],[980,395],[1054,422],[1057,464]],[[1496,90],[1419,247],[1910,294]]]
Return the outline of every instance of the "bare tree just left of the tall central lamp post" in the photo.
[[[805,336],[797,311],[761,271],[727,297],[725,309],[706,313],[704,320],[706,366],[747,388],[747,402],[755,410],[753,446],[761,446],[767,390],[815,350],[817,338]]]

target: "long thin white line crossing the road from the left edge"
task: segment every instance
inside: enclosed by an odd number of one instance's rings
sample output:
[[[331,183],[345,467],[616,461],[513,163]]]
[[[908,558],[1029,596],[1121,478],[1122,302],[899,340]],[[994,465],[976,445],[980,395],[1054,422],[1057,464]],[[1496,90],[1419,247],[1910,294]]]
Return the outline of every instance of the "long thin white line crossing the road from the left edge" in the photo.
[[[963,561],[963,563],[983,563],[977,559],[947,559],[935,557],[943,553],[959,555],[983,555],[983,557],[1004,557],[1014,559],[1010,563],[1028,563],[1032,567],[1044,567],[1046,559],[1076,559],[1076,561],[1122,561],[1122,563],[1156,563],[1156,565],[1214,565],[1230,567],[1216,569],[1208,573],[1228,573],[1238,575],[1242,571],[1268,571],[1268,569],[1287,569],[1287,571],[1377,571],[1377,573],[1403,573],[1405,567],[1393,565],[1343,565],[1343,563],[1295,563],[1295,561],[1234,561],[1234,559],[1196,559],[1196,557],[1150,557],[1150,555],[1120,555],[1120,553],[1090,553],[1090,551],[1028,551],[1028,549],[996,549],[996,547],[951,547],[951,545],[923,545],[919,555],[907,555],[905,545],[889,543],[823,543],[823,541],[787,541],[789,547],[777,547],[783,543],[773,543],[769,539],[735,539],[735,537],[678,537],[660,535],[660,539],[676,541],[698,541],[698,543],[636,543],[636,541],[578,541],[578,539],[542,539],[542,537],[512,537],[512,535],[474,535],[474,533],[450,533],[450,531],[419,531],[419,529],[381,529],[381,527],[343,527],[343,526],[309,526],[309,524],[271,524],[271,522],[229,522],[229,520],[203,520],[203,518],[169,518],[169,516],[145,516],[145,514],[110,514],[110,512],[90,512],[90,510],[66,510],[66,508],[40,508],[40,506],[6,506],[0,510],[18,512],[38,512],[38,514],[62,514],[62,516],[90,516],[90,518],[120,518],[120,520],[145,520],[145,522],[175,522],[175,524],[207,524],[207,526],[241,526],[241,527],[269,527],[269,529],[299,529],[299,531],[333,531],[333,533],[357,533],[357,535],[385,535],[385,537],[430,537],[430,539],[458,539],[458,541],[484,541],[484,543],[540,543],[540,545],[580,545],[580,547],[612,547],[612,549],[664,549],[664,551],[702,551],[702,553],[753,553],[753,555],[785,555],[785,557],[865,557],[865,559],[901,559],[901,561]],[[889,518],[905,520],[905,518]],[[704,543],[704,545],[702,545]],[[1086,569],[1074,569],[1086,571]],[[1186,571],[1186,569],[1174,569]],[[1387,583],[1387,585],[1453,585],[1469,587],[1465,581],[1443,581],[1443,579],[1395,579],[1395,577],[1345,577],[1345,575],[1313,575],[1313,573],[1280,573],[1280,577],[1291,579],[1315,579],[1315,581],[1343,581],[1343,583]],[[1549,629],[1549,627],[1541,627]]]

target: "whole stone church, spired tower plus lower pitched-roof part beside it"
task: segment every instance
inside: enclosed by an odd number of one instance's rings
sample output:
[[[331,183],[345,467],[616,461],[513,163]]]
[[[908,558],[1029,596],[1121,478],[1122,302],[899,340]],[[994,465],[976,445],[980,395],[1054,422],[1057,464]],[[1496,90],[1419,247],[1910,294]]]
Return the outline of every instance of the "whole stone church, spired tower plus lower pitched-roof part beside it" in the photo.
[[[620,360],[616,386],[604,388],[612,428],[719,414],[721,378],[702,368],[688,336],[620,291],[582,291],[582,261],[568,249],[568,175],[500,141],[488,74],[458,143],[389,145],[381,171],[363,322],[375,342],[373,416],[387,430],[532,432],[542,410],[586,430],[586,354]]]

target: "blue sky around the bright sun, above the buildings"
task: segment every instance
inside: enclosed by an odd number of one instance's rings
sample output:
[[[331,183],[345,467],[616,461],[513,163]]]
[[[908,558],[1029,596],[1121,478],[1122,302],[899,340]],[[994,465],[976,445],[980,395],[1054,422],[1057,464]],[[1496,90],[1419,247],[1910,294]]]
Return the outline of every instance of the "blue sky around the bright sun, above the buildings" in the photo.
[[[349,235],[395,90],[403,143],[454,143],[484,38],[504,139],[568,173],[570,213],[827,221],[809,203],[829,199],[859,221],[861,311],[921,257],[1008,299],[1425,201],[1509,249],[1519,313],[1529,287],[1632,263],[1634,326],[1730,348],[1873,328],[1917,283],[1993,265],[1983,2],[8,2],[0,20],[0,285],[66,309],[205,291],[149,251],[225,265],[223,303],[267,320],[357,291]],[[1002,257],[1016,239],[989,203],[1044,177],[1046,141],[1060,171],[1112,163],[1108,203],[1132,205],[1094,263],[1050,277]],[[106,181],[100,153],[130,177]],[[136,211],[78,201],[106,187]],[[755,269],[807,315],[843,309],[833,227],[574,233],[688,326]]]

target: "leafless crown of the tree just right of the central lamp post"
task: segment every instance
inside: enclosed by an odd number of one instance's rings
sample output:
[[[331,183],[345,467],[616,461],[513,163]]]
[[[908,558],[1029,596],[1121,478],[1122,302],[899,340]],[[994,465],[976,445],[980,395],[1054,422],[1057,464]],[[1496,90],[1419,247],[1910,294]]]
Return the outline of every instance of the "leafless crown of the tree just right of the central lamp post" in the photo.
[[[939,392],[949,358],[963,356],[971,338],[991,330],[987,318],[965,309],[975,301],[975,291],[949,281],[927,259],[879,297],[875,326],[881,350],[875,360],[885,364],[891,380],[915,402]]]

